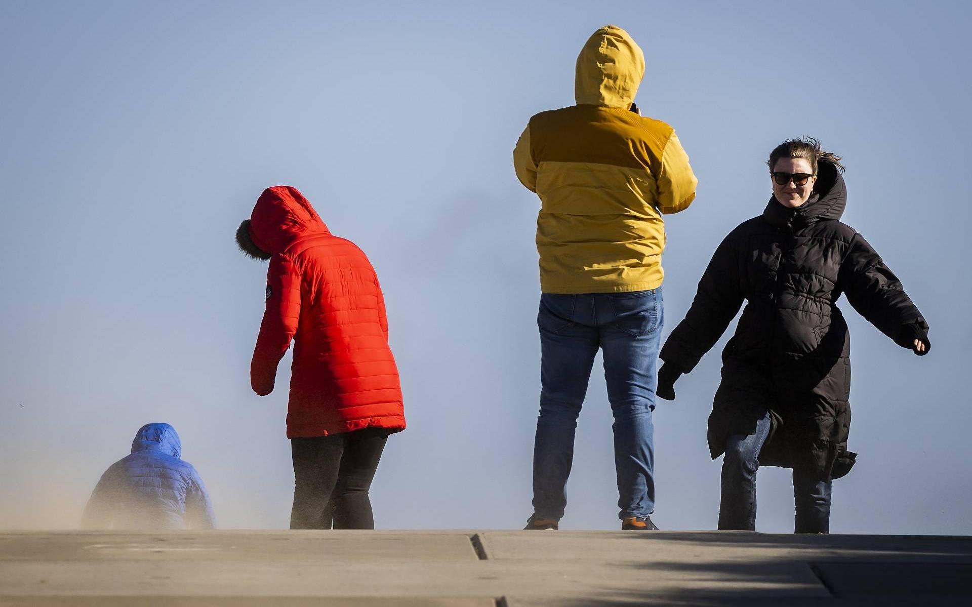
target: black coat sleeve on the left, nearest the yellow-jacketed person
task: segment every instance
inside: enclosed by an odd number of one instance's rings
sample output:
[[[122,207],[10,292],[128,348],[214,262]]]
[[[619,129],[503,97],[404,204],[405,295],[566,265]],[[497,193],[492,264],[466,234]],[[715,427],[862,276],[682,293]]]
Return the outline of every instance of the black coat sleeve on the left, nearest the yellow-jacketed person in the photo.
[[[682,373],[695,368],[743,305],[733,240],[730,233],[715,249],[685,319],[678,323],[662,348],[659,358],[672,363]]]

